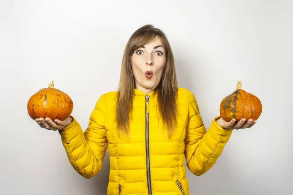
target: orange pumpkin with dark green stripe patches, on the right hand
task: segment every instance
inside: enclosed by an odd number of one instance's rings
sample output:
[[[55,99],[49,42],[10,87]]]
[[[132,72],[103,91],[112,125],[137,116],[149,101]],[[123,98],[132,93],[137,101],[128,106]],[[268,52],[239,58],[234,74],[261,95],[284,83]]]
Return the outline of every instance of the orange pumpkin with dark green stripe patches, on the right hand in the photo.
[[[220,116],[227,122],[232,118],[236,122],[242,118],[257,120],[262,113],[259,98],[241,89],[241,85],[238,81],[236,90],[221,101]]]

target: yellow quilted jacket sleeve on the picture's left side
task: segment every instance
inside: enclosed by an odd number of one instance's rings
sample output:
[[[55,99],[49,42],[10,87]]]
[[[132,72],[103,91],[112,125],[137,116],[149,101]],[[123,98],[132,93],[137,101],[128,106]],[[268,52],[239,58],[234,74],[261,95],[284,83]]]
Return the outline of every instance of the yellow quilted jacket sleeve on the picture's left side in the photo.
[[[107,148],[105,109],[105,95],[102,95],[84,132],[74,117],[70,125],[59,131],[70,164],[85,178],[95,176],[102,168]]]

